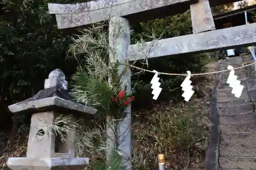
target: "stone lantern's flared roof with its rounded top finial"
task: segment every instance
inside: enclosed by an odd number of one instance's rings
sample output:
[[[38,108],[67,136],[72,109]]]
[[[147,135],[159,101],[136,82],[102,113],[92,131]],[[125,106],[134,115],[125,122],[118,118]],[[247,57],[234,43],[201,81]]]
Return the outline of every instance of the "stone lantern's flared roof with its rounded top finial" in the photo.
[[[78,103],[68,92],[68,82],[60,69],[55,69],[45,80],[45,89],[31,98],[10,105],[13,113],[36,113],[49,110],[64,110],[73,114],[95,114],[97,109]]]

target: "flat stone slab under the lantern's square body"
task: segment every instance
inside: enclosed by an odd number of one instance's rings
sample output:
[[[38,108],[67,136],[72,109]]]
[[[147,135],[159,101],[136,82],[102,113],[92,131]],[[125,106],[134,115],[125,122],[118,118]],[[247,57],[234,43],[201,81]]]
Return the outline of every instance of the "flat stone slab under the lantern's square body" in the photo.
[[[77,170],[86,167],[89,158],[9,158],[7,165],[13,170]]]

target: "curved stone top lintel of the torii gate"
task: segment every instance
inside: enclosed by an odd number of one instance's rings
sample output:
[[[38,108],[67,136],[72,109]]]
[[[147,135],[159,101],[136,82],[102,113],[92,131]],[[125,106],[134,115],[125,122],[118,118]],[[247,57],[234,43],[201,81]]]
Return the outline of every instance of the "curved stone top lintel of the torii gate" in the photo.
[[[58,29],[90,25],[122,16],[130,21],[162,18],[189,9],[198,0],[97,0],[76,4],[48,4],[49,13],[56,15]],[[237,2],[238,0],[209,0],[210,6]]]

